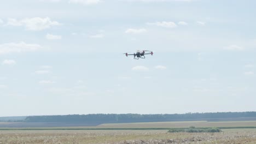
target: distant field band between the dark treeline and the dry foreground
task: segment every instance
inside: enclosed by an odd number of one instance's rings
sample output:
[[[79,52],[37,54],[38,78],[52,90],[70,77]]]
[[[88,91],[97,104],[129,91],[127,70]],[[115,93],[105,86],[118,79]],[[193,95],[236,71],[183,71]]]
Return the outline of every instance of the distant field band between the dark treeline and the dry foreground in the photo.
[[[49,126],[50,125],[50,126]],[[51,126],[52,125],[52,126]],[[188,128],[191,126],[197,128],[218,127],[218,128],[256,128],[256,121],[225,121],[225,122],[207,122],[207,121],[188,121],[188,122],[149,122],[149,123],[113,123],[100,124],[97,126],[69,127],[69,124],[42,124],[42,123],[1,123],[0,130],[4,129],[169,129],[169,128]],[[63,126],[65,125],[65,126]]]

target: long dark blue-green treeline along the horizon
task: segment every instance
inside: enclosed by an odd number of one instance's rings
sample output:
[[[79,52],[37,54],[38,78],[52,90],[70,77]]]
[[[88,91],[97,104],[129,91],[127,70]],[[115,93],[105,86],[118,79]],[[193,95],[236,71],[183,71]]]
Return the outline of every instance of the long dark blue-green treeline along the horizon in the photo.
[[[28,116],[24,122],[60,122],[60,123],[132,123],[132,122],[167,122],[167,121],[248,121],[256,120],[256,112],[208,112],[185,114],[90,114]]]

